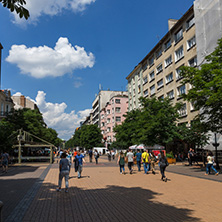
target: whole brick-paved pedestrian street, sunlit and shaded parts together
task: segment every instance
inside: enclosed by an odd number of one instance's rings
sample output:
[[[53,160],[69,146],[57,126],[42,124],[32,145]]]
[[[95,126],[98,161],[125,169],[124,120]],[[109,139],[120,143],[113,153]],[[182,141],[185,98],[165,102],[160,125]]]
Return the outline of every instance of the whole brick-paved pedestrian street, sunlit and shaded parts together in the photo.
[[[158,167],[156,175],[134,169],[123,175],[116,160],[87,159],[81,179],[72,165],[65,193],[64,181],[56,191],[57,162],[11,167],[0,174],[3,221],[221,221],[222,174],[206,178],[198,168],[172,165],[163,182]]]

